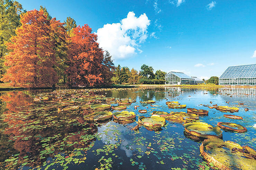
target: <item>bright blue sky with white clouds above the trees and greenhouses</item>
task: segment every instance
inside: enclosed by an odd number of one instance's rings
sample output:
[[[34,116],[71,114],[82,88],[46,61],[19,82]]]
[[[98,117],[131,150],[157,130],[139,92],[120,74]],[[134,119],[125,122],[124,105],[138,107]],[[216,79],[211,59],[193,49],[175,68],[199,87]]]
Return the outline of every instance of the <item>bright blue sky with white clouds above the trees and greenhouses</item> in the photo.
[[[62,22],[88,24],[116,66],[147,64],[207,79],[256,63],[255,0],[18,1],[26,10],[45,6]]]

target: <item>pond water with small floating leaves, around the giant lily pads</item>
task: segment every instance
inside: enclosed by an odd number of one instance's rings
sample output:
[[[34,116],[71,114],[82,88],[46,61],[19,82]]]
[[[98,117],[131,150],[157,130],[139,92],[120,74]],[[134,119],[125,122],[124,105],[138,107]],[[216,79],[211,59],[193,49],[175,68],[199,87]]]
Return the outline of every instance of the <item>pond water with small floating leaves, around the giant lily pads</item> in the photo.
[[[141,126],[131,130],[139,116],[149,117],[153,111],[184,111],[169,109],[166,101],[179,101],[187,108],[208,110],[199,121],[216,126],[218,122],[234,122],[247,128],[244,133],[222,132],[223,141],[256,148],[256,89],[111,89],[111,90],[43,90],[0,93],[0,169],[218,169],[200,156],[202,141],[184,132],[182,123],[167,121],[161,129]],[[34,101],[34,98],[49,100]],[[232,96],[232,97],[231,97]],[[112,119],[86,122],[83,114],[90,109],[60,112],[61,100],[72,99],[74,106],[106,103],[112,98],[129,98],[127,105],[136,120],[128,123]],[[154,100],[158,107],[140,101]],[[229,103],[227,102],[229,101]],[[113,101],[112,101],[113,102]],[[212,103],[210,103],[212,102]],[[238,105],[244,103],[244,105]],[[239,107],[239,112],[223,113],[206,106]],[[138,109],[134,106],[138,105]],[[113,102],[112,106],[117,106]],[[248,108],[248,111],[245,111]],[[147,113],[139,113],[139,109]],[[117,112],[116,110],[110,110]],[[223,114],[235,114],[242,120]],[[255,160],[254,160],[255,161]],[[236,167],[232,167],[236,169]],[[239,169],[239,168],[237,168]]]

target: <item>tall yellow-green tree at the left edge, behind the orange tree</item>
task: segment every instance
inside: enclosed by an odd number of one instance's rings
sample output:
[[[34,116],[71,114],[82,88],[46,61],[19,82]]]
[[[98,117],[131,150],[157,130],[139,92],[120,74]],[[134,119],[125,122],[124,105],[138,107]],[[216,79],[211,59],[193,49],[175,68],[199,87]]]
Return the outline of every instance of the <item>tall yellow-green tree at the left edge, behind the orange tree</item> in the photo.
[[[4,56],[8,53],[5,43],[15,36],[15,29],[20,26],[20,14],[25,12],[17,1],[0,0],[0,78],[5,73]]]

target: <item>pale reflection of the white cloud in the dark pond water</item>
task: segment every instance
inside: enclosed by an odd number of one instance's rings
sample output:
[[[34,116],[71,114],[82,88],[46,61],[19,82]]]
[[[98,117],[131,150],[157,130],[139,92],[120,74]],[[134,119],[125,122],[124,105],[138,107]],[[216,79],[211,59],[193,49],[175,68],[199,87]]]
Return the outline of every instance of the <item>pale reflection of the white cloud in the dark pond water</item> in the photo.
[[[112,124],[112,123],[111,123]],[[127,157],[131,157],[133,154],[133,152],[138,152],[136,150],[136,148],[140,148],[143,152],[141,152],[141,156],[144,155],[145,151],[146,151],[146,147],[145,146],[142,146],[142,145],[137,145],[135,142],[133,142],[131,139],[134,138],[134,136],[131,136],[129,133],[127,133],[127,129],[126,127],[123,127],[123,125],[116,125],[117,127],[113,127],[113,126],[110,126],[110,127],[106,127],[106,125],[104,126],[101,126],[98,128],[98,132],[99,133],[102,133],[100,135],[101,137],[101,140],[103,143],[105,144],[115,144],[117,141],[115,141],[115,135],[112,134],[111,132],[113,132],[112,130],[119,130],[119,132],[121,133],[121,135],[118,135],[118,138],[121,138],[121,144],[120,144],[120,149],[121,150],[124,150],[125,151],[125,154]],[[105,130],[108,129],[108,135],[105,134]],[[109,139],[110,137],[113,137],[112,139]],[[128,139],[128,138],[131,138],[131,139]],[[108,143],[107,140],[109,140],[110,142]],[[127,146],[128,144],[134,144],[134,145],[130,145],[129,146],[129,149],[126,149],[125,146]],[[130,149],[133,149],[133,150],[130,150]]]

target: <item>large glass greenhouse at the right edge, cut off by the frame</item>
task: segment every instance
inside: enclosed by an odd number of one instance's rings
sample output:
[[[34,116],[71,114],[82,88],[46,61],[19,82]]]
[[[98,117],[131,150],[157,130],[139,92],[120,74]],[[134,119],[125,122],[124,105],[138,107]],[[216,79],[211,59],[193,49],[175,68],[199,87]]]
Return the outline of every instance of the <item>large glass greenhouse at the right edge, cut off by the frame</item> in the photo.
[[[255,86],[256,64],[230,66],[220,76],[219,85],[224,86]]]

